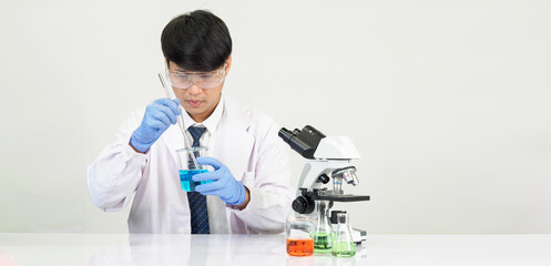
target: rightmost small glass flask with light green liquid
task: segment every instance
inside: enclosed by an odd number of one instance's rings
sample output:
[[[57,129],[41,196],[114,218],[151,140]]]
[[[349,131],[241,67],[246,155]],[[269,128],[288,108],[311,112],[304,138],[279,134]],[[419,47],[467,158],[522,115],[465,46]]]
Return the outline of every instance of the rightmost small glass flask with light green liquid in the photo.
[[[337,222],[331,255],[335,257],[353,257],[356,255],[356,245],[354,245],[348,214],[338,213]]]

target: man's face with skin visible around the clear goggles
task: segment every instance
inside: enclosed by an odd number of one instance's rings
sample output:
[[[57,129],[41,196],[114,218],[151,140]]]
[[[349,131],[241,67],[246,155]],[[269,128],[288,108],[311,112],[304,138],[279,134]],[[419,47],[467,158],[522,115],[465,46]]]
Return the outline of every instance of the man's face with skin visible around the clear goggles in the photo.
[[[227,75],[231,64],[232,57],[229,57],[226,63],[222,66],[224,68],[225,75]],[[178,73],[186,72],[184,69],[177,66],[174,62],[169,62],[169,71]],[[200,75],[196,78],[200,78]],[[187,89],[181,89],[174,85],[172,86],[172,89],[174,90],[174,94],[180,100],[182,106],[185,109],[185,111],[187,111],[190,116],[192,116],[195,122],[203,122],[213,113],[214,109],[218,104],[222,96],[222,88],[224,86],[224,81],[225,79],[220,84],[211,89],[203,89],[201,88],[201,84],[196,84],[196,82],[194,82]]]

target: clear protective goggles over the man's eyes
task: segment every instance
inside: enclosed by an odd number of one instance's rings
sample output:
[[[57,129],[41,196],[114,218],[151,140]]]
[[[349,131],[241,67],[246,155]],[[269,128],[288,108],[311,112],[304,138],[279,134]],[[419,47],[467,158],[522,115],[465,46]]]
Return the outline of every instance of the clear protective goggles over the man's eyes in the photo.
[[[190,89],[193,84],[201,89],[213,89],[220,85],[226,75],[226,64],[211,72],[170,71],[166,68],[166,79],[177,89]]]

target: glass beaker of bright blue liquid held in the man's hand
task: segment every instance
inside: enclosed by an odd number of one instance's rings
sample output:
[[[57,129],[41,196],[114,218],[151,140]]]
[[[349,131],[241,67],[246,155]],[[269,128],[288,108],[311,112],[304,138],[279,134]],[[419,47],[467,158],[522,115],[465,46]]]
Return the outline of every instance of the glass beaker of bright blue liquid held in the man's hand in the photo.
[[[180,183],[182,185],[182,190],[186,192],[194,192],[195,186],[213,182],[213,181],[194,182],[192,180],[192,177],[195,174],[208,172],[208,170],[205,168],[204,166],[194,163],[192,158],[192,153],[197,158],[203,156],[205,151],[206,147],[204,146],[194,146],[194,147],[176,150],[176,153],[180,158]]]

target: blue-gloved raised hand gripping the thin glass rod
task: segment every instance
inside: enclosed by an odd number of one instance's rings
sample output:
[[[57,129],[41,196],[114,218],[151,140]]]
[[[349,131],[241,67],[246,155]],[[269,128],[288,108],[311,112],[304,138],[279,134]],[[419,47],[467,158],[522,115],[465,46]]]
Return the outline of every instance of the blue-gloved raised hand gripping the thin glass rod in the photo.
[[[140,152],[146,152],[180,115],[180,100],[163,98],[147,105],[142,124],[132,133],[130,144]]]

